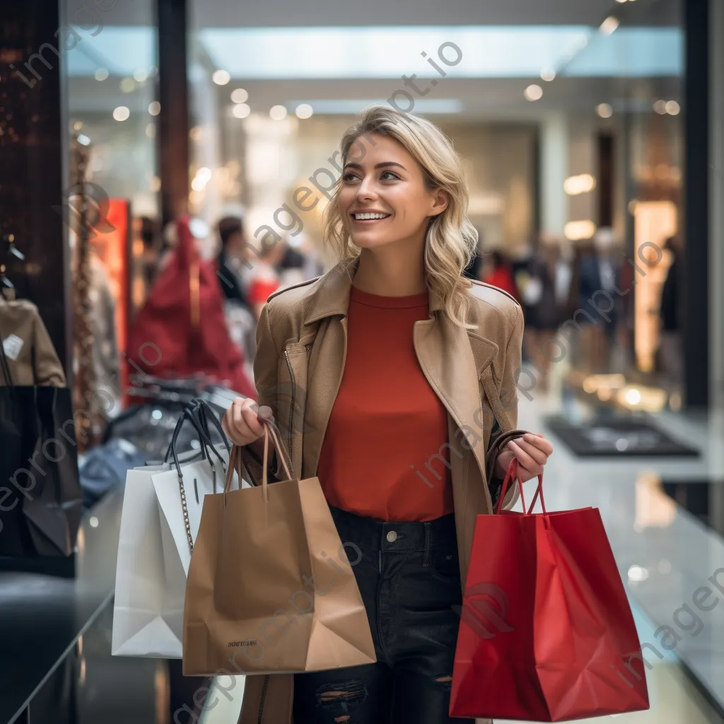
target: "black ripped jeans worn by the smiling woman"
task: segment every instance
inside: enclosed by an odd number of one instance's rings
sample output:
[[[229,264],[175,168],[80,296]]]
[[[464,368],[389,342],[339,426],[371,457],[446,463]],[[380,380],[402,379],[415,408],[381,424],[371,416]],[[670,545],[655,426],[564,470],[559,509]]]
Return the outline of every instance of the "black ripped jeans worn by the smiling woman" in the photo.
[[[462,602],[454,516],[382,523],[331,510],[342,543],[361,551],[346,549],[377,662],[295,675],[294,723],[473,724],[447,713]]]

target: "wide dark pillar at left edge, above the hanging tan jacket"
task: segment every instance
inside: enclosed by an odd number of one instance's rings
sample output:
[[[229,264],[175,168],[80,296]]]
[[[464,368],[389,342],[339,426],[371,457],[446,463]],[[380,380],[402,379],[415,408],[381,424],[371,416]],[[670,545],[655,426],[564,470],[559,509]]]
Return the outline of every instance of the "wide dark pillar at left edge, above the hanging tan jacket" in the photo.
[[[70,371],[70,269],[62,221],[63,138],[58,0],[4,2],[0,12],[0,237],[17,297],[38,306]],[[5,244],[0,241],[0,254]]]

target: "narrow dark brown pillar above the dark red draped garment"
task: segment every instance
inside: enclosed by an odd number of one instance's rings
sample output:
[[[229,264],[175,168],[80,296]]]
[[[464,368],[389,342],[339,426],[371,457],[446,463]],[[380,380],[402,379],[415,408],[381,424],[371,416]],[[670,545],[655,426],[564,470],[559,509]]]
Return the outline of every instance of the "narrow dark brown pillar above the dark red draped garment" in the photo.
[[[188,76],[186,0],[158,0],[159,170],[164,225],[188,209]]]

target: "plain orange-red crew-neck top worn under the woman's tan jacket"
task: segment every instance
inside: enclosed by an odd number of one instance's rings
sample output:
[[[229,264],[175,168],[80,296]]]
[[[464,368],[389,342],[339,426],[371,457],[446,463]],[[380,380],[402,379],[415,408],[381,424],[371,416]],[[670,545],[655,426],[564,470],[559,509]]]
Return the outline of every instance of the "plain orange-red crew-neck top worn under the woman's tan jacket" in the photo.
[[[413,345],[413,325],[428,308],[426,292],[352,288],[345,370],[318,469],[335,508],[395,523],[452,513],[447,411]]]

